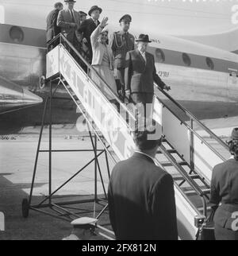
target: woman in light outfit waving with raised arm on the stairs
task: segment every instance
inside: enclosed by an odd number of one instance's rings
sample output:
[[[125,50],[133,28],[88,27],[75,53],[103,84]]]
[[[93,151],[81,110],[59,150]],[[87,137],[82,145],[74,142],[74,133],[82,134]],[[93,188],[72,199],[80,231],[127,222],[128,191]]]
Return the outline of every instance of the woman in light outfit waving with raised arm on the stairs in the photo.
[[[113,76],[113,52],[107,45],[108,30],[105,29],[108,18],[104,17],[98,28],[91,34],[91,45],[93,49],[92,66],[102,77],[102,79],[109,85],[115,95],[117,95],[117,85]],[[100,87],[102,93],[106,95],[107,99],[114,99],[113,94],[109,92],[108,88],[98,80],[94,72],[91,74],[92,80]]]

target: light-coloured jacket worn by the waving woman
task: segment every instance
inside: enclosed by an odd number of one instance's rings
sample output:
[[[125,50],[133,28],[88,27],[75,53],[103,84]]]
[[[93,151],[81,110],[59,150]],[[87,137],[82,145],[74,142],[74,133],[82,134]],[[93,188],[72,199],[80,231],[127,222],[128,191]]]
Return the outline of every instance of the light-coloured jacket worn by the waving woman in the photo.
[[[98,37],[101,32],[102,32],[102,28],[98,25],[98,28],[94,30],[94,32],[91,34],[91,37],[90,37],[90,41],[93,49],[92,65],[101,65],[103,56],[107,51],[109,55],[110,69],[113,70],[113,51],[108,45],[106,45],[105,47],[105,45],[102,45],[98,41]]]

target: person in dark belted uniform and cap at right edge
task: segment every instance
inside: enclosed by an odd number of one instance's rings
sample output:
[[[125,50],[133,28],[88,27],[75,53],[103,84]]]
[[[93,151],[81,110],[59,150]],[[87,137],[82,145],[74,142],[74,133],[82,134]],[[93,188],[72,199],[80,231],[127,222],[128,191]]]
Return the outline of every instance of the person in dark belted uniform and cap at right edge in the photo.
[[[213,169],[211,196],[217,240],[238,240],[234,225],[238,216],[238,128],[232,130],[228,140],[232,157]],[[234,215],[234,216],[233,216]]]

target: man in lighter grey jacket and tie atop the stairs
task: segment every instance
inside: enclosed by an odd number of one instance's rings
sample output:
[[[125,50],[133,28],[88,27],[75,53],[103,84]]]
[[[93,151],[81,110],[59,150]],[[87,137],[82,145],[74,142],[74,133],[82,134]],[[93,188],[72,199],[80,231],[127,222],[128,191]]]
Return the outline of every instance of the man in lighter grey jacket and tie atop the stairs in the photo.
[[[76,30],[80,25],[79,13],[74,10],[74,0],[64,0],[66,7],[59,12],[57,25],[61,28],[61,33],[75,47],[77,46]]]

